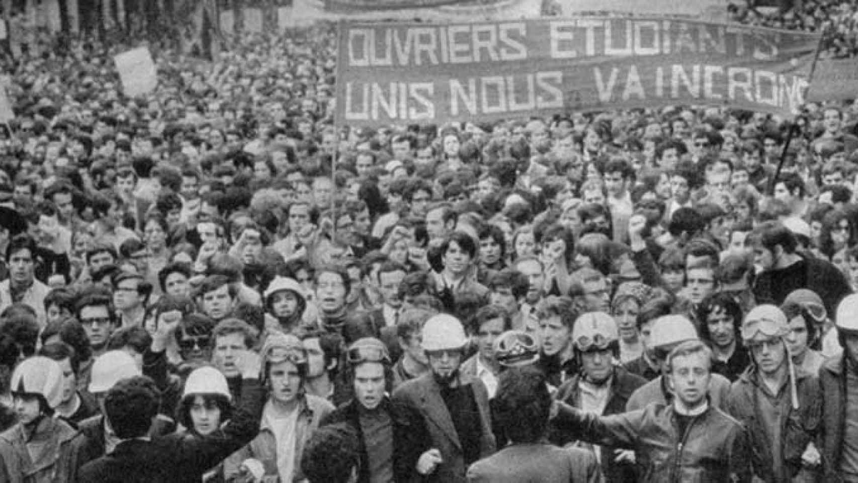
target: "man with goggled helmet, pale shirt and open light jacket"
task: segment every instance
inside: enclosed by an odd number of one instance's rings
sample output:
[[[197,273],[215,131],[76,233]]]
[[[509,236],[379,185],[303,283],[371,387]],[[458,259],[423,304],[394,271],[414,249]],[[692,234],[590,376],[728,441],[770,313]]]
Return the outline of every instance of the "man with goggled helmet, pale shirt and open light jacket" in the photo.
[[[261,379],[269,389],[259,434],[224,461],[227,481],[248,472],[281,481],[302,480],[301,453],[321,420],[334,410],[330,402],[306,394],[307,354],[295,335],[273,332],[260,352]],[[260,473],[257,475],[257,473]]]

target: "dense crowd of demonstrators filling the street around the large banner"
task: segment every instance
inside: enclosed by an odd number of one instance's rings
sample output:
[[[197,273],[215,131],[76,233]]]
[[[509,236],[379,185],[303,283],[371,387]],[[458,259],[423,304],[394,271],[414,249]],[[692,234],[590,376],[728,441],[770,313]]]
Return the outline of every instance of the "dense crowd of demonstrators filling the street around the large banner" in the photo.
[[[0,483],[858,481],[858,102],[353,129],[335,34],[3,46]]]

